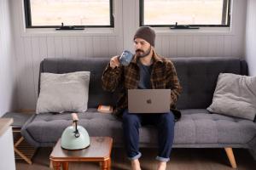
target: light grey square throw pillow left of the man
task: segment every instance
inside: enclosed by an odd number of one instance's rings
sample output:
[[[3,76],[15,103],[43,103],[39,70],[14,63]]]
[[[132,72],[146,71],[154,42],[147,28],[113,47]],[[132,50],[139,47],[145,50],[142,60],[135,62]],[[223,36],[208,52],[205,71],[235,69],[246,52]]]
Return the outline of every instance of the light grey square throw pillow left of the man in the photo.
[[[87,110],[90,71],[41,73],[37,113]]]

